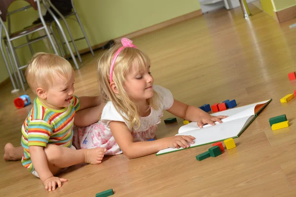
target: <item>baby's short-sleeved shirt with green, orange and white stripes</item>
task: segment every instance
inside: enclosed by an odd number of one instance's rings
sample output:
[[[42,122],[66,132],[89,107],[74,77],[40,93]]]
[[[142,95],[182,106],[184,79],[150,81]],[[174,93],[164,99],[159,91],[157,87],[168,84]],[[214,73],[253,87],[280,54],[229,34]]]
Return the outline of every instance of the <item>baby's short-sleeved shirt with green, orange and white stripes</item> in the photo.
[[[21,143],[24,148],[22,164],[32,172],[29,146],[56,144],[70,147],[72,145],[74,115],[80,107],[80,100],[72,97],[68,107],[61,110],[44,106],[38,98],[22,126]]]

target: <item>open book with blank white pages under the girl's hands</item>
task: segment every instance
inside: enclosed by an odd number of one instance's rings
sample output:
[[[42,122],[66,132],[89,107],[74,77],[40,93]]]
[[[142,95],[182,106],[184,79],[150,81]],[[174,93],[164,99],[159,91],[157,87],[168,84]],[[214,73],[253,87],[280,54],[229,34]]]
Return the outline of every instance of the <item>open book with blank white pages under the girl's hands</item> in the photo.
[[[213,113],[213,116],[228,116],[222,119],[223,123],[216,122],[215,126],[205,125],[202,129],[197,126],[196,122],[191,122],[182,126],[176,135],[192,135],[195,137],[194,144],[190,144],[189,148],[201,146],[205,144],[215,143],[228,139],[230,137],[239,137],[247,127],[255,120],[259,112],[271,101],[264,100],[254,104],[245,105],[225,111]],[[184,150],[184,148],[167,148],[159,151],[156,155],[162,155],[174,151]]]

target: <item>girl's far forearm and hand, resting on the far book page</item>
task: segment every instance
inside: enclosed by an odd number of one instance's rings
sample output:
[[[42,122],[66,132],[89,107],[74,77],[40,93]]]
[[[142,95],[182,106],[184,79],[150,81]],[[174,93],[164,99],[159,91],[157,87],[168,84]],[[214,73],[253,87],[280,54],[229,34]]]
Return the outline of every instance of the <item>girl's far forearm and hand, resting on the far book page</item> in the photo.
[[[174,99],[174,103],[171,108],[167,109],[168,112],[183,118],[188,121],[197,122],[197,126],[202,128],[205,124],[215,125],[215,122],[222,123],[221,119],[227,116],[211,116],[207,112],[201,110],[198,107],[187,105]]]

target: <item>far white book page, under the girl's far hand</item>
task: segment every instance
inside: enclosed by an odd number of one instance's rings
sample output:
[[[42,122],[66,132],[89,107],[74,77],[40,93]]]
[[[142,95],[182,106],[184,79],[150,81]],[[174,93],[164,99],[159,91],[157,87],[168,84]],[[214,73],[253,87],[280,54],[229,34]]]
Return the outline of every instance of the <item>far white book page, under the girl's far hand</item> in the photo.
[[[232,121],[235,119],[239,119],[239,118],[243,118],[243,117],[250,117],[251,115],[255,115],[255,107],[258,104],[263,104],[268,102],[269,100],[264,100],[261,102],[257,102],[257,103],[253,103],[253,104],[249,104],[249,105],[245,105],[242,107],[236,107],[233,109],[228,109],[225,111],[220,111],[217,113],[213,113],[211,114],[212,116],[219,116],[219,115],[224,115],[224,116],[228,116],[227,118],[222,119],[222,122],[228,122],[228,121]],[[216,124],[219,124],[218,122],[216,122]],[[205,125],[203,127],[203,129],[208,128],[208,127],[213,127],[212,125]],[[186,131],[191,131],[191,130],[196,130],[196,129],[200,129],[199,127],[197,127],[197,123],[196,122],[191,122],[187,125],[182,126],[178,133],[183,133]]]

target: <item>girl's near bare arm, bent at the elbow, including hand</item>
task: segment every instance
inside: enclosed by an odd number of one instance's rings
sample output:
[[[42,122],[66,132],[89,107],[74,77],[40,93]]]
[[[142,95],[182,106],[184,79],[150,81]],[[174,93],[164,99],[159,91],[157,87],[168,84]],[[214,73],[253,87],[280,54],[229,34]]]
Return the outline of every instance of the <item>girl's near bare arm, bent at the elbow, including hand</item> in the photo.
[[[166,148],[188,148],[188,142],[193,144],[193,139],[195,139],[195,137],[190,135],[178,135],[154,141],[134,142],[134,137],[125,123],[111,121],[109,126],[118,146],[123,154],[129,159],[157,153]]]

